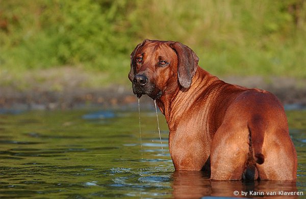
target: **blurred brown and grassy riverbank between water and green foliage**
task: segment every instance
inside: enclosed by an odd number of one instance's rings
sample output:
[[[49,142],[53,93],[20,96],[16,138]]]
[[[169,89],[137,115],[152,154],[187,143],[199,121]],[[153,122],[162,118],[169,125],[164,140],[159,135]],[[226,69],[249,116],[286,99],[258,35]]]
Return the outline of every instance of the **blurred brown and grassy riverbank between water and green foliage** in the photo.
[[[109,77],[108,77],[109,78]],[[289,77],[226,76],[225,82],[274,93],[284,104],[306,106],[306,79]],[[150,102],[147,97],[142,103]],[[127,79],[109,83],[104,73],[64,67],[30,72],[16,79],[2,73],[1,109],[72,109],[84,106],[116,108],[137,104]]]

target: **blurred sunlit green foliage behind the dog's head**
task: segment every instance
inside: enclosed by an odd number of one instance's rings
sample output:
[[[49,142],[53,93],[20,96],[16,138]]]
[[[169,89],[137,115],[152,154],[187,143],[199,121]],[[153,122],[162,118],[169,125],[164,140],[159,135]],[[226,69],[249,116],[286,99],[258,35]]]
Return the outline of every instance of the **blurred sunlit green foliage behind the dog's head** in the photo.
[[[306,77],[304,0],[0,0],[1,68],[82,66],[126,79],[145,38],[188,45],[217,75]]]

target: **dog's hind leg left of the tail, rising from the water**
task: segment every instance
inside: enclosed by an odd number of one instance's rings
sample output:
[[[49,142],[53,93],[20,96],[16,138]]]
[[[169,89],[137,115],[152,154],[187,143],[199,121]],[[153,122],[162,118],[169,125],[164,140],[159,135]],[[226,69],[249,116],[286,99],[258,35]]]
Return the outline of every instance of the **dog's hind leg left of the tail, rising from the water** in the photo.
[[[222,124],[211,147],[211,179],[241,180],[249,153],[249,131],[242,123]]]

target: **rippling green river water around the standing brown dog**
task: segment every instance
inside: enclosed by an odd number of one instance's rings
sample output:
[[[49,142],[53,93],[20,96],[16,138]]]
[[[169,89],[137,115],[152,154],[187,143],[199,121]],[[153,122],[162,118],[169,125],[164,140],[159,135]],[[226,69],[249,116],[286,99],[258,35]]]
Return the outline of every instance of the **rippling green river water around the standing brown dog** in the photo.
[[[290,183],[211,182],[205,173],[174,172],[167,125],[160,115],[163,154],[154,133],[154,109],[141,112],[141,159],[135,110],[0,114],[0,197],[221,198],[259,190],[306,194],[306,111],[287,111],[298,153],[298,179]]]

